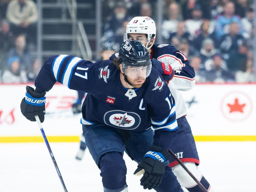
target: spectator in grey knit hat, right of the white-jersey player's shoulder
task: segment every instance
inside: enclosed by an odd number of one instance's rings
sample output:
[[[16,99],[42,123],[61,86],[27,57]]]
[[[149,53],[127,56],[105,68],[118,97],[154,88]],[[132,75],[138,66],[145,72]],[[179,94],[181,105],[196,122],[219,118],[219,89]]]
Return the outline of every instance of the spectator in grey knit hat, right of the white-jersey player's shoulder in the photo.
[[[200,58],[202,60],[203,66],[206,68],[207,65],[205,63],[207,60],[212,60],[212,57],[217,53],[217,50],[214,47],[214,42],[210,38],[204,39],[202,43],[202,48],[200,49]],[[209,70],[209,68],[206,68]]]

